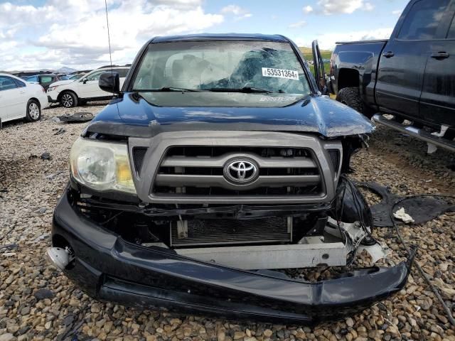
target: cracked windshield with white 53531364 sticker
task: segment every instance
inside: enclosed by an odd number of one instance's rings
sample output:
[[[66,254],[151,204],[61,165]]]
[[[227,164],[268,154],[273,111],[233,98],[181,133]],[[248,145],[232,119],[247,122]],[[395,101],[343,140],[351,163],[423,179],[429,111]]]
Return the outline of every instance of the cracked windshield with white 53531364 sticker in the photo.
[[[291,45],[265,41],[149,45],[133,90],[157,91],[163,88],[310,92],[304,70]]]

